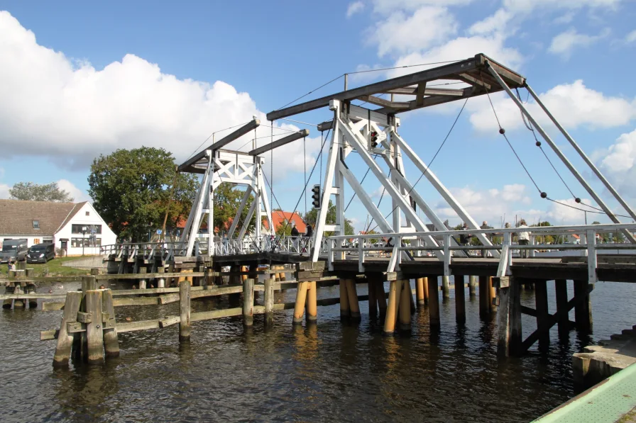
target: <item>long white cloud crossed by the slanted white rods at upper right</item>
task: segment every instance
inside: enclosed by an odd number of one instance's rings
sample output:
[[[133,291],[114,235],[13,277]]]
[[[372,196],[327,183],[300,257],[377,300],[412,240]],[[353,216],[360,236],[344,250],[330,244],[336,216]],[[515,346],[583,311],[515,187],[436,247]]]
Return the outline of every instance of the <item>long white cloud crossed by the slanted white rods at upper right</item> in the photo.
[[[520,111],[508,96],[496,94],[491,98],[505,130],[522,128]],[[613,128],[625,125],[636,118],[636,98],[630,100],[605,96],[599,91],[586,87],[581,79],[574,81],[573,84],[557,85],[546,93],[539,94],[539,98],[561,125],[569,129],[579,126]],[[476,130],[483,132],[498,130],[488,98],[475,98],[469,101],[468,105],[469,110],[474,111],[470,120]],[[537,103],[530,101],[525,106],[542,126],[551,125]]]

